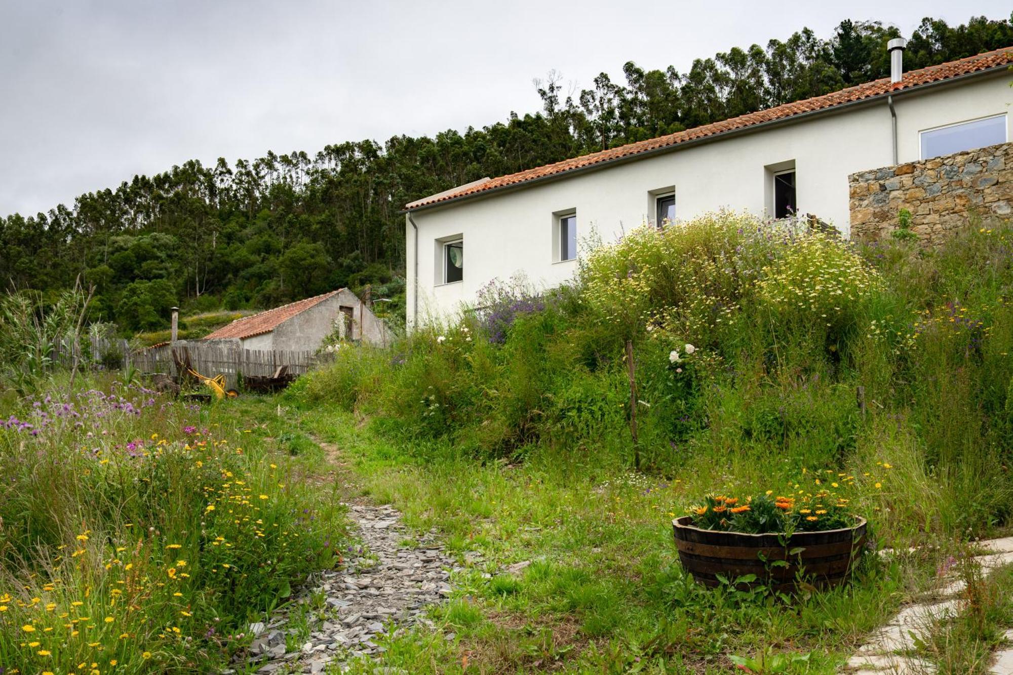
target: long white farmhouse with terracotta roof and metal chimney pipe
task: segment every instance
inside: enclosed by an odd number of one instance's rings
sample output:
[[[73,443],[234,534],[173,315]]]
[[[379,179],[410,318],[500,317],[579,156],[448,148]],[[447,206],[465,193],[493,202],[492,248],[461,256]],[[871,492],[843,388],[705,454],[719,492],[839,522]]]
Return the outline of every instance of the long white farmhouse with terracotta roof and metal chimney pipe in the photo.
[[[493,279],[550,287],[576,241],[726,208],[808,213],[849,234],[848,175],[1006,143],[1013,48],[724,122],[483,178],[405,207],[407,322],[452,315]]]

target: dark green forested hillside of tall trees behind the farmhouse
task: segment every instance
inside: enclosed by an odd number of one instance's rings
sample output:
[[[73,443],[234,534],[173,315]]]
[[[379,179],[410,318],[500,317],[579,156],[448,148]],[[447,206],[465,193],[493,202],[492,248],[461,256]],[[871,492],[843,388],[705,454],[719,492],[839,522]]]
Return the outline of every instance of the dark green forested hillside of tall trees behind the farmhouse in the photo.
[[[908,69],[1013,45],[1011,19],[949,26],[926,18]],[[34,216],[0,218],[0,278],[55,291],[82,275],[93,318],[126,331],[162,325],[174,304],[266,307],[338,286],[372,284],[403,299],[400,208],[482,176],[523,170],[888,74],[899,30],[843,21],[828,39],[803,28],[766,47],[733,48],[674,67],[623,66],[564,95],[560,76],[535,85],[543,109],[434,138],[394,136],[214,166],[188,161],[78,197]],[[55,158],[55,161],[58,158]]]

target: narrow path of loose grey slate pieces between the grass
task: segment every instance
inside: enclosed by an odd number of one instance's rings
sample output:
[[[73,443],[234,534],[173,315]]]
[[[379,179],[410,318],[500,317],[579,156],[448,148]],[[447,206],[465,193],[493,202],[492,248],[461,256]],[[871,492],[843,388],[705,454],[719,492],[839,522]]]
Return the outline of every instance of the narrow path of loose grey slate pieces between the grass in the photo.
[[[256,639],[247,659],[259,666],[257,673],[320,673],[332,664],[379,655],[381,634],[416,623],[432,627],[425,608],[450,594],[450,573],[458,569],[434,532],[416,533],[409,541],[396,509],[350,497],[360,491],[340,449],[317,443],[331,468],[316,479],[337,482],[346,495],[342,503],[360,544],[348,547],[343,568],[316,575],[268,623],[250,626]]]

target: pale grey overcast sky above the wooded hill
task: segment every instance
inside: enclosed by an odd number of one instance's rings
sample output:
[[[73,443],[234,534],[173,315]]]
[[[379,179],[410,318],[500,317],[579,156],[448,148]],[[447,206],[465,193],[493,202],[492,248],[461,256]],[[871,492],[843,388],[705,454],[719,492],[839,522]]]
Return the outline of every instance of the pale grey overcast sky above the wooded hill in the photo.
[[[961,8],[961,6],[963,8]],[[1009,0],[848,3],[0,0],[0,215],[33,214],[191,158],[255,158],[533,111],[550,69],[828,36],[844,18],[1008,18]]]

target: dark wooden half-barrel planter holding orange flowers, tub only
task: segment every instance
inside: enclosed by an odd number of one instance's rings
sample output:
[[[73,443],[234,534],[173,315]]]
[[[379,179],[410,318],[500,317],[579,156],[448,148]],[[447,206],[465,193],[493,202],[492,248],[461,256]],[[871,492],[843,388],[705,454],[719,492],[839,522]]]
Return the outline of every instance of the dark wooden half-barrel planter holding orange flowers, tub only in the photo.
[[[719,586],[718,575],[729,582],[756,575],[755,584],[792,591],[801,579],[816,588],[837,586],[848,578],[865,545],[864,518],[854,527],[823,532],[795,532],[784,545],[777,534],[744,534],[704,530],[691,516],[672,521],[683,568],[706,586]],[[784,565],[771,565],[784,560]]]

